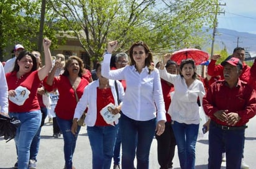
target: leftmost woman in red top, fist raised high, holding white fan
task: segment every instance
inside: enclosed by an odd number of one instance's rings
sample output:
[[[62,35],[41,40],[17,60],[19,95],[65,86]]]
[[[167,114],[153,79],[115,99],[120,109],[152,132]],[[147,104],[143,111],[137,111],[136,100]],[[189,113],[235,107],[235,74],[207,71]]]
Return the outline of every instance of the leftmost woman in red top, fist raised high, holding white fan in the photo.
[[[43,68],[37,70],[35,56],[23,51],[16,58],[14,69],[6,74],[9,89],[9,116],[17,117],[21,121],[14,139],[18,153],[16,167],[18,165],[19,168],[28,168],[30,144],[41,124],[42,114],[37,99],[37,88],[52,68],[50,43],[51,41],[47,38],[43,39],[45,53]],[[22,88],[22,91],[25,90],[25,96],[22,98],[19,97],[22,92],[19,88]]]

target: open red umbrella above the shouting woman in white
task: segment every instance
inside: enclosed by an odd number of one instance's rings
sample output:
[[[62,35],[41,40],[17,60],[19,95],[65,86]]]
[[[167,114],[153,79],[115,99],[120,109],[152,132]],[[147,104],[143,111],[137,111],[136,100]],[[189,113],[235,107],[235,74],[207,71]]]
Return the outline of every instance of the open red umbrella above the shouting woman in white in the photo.
[[[171,54],[171,60],[175,61],[178,65],[180,65],[182,60],[188,58],[193,59],[196,65],[200,65],[208,60],[209,54],[197,48],[184,48]]]

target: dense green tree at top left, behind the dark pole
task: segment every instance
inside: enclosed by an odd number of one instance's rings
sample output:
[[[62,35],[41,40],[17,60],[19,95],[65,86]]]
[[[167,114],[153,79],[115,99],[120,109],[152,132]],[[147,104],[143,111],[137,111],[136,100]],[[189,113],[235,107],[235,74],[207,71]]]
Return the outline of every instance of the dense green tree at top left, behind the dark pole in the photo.
[[[41,14],[41,0],[2,0],[0,2],[0,60],[3,55],[11,52],[4,51],[6,47],[13,47],[17,43],[24,45],[27,50],[40,49],[39,26]],[[57,47],[57,27],[63,27],[62,22],[53,22],[56,17],[46,6],[43,35],[53,40],[52,48]]]

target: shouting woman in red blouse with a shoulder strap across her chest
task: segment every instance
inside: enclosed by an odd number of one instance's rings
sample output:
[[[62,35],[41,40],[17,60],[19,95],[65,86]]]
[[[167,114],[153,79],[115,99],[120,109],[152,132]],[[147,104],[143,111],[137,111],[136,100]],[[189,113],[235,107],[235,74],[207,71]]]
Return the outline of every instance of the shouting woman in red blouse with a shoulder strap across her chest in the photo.
[[[55,107],[58,126],[63,134],[64,139],[64,156],[65,169],[73,169],[73,153],[75,152],[76,139],[80,127],[76,130],[75,135],[71,133],[73,116],[77,104],[76,96],[81,98],[88,81],[83,76],[83,60],[76,56],[71,56],[66,60],[64,72],[60,76],[54,76],[55,71],[60,66],[60,60],[55,61],[52,71],[49,73],[46,83],[44,84],[47,91],[58,89],[60,94]]]

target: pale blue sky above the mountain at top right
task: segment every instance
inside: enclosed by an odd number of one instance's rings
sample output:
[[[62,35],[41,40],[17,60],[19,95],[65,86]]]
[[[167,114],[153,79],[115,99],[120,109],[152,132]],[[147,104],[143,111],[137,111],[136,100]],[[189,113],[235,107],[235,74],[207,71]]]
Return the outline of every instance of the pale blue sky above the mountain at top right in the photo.
[[[219,14],[218,28],[256,34],[256,0],[221,0],[225,14]]]

